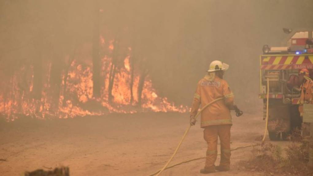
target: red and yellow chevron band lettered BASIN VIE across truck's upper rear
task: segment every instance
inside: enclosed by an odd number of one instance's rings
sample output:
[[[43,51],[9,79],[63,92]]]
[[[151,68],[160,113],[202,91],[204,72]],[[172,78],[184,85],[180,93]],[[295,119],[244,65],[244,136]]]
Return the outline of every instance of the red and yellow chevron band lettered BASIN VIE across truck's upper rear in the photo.
[[[313,55],[262,55],[262,70],[313,69]]]

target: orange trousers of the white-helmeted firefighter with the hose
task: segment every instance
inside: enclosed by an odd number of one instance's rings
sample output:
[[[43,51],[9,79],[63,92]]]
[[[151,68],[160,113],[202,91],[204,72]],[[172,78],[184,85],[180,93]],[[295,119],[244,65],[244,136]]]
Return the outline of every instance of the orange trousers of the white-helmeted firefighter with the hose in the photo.
[[[214,167],[217,158],[218,137],[221,142],[221,162],[222,166],[230,165],[230,128],[231,125],[211,125],[203,130],[204,140],[208,143],[205,168]]]

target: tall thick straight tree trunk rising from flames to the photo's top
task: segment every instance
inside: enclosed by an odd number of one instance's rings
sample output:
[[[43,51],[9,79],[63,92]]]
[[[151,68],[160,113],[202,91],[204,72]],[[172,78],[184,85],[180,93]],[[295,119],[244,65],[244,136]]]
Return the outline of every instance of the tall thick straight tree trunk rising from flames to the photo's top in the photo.
[[[93,80],[93,96],[98,98],[101,95],[101,84],[100,84],[100,74],[101,74],[101,61],[99,56],[99,7],[97,1],[95,1],[95,22],[94,22],[94,29],[93,29],[93,44],[92,44],[92,80]]]

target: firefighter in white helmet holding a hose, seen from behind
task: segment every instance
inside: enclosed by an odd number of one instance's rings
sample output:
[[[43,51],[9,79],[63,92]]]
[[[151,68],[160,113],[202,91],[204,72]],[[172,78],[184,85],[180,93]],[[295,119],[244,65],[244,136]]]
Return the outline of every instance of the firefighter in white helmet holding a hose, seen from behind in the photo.
[[[228,67],[221,61],[213,61],[207,71],[208,74],[198,82],[192,101],[190,125],[195,125],[195,115],[199,105],[203,107],[217,98],[224,97],[223,100],[208,106],[201,113],[203,137],[208,144],[205,167],[200,170],[202,174],[213,173],[215,170],[228,171],[230,166],[230,128],[232,125],[230,108],[234,105],[234,96],[228,83],[223,80],[224,71]],[[221,161],[219,166],[215,166],[218,136],[221,144]]]

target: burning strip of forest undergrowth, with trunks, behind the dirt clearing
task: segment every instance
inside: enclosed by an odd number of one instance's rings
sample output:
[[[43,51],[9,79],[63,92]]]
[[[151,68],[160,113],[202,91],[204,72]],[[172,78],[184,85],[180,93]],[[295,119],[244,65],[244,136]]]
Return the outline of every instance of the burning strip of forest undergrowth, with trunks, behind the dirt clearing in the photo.
[[[111,42],[109,50],[113,51]],[[131,52],[131,48],[129,48]],[[21,115],[38,119],[69,118],[85,115],[103,115],[112,112],[186,112],[185,106],[175,106],[166,97],[158,95],[148,72],[134,69],[130,54],[116,64],[112,56],[105,55],[100,66],[100,95],[93,93],[93,64],[69,59],[59,69],[55,79],[54,61],[40,66],[24,65],[1,82],[0,115],[14,120]],[[37,68],[37,69],[36,69]],[[58,73],[58,72],[57,72]],[[4,77],[4,76],[3,76]],[[55,81],[56,80],[56,81]],[[39,85],[39,86],[38,86]],[[38,88],[39,87],[39,88]]]

